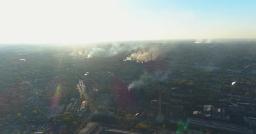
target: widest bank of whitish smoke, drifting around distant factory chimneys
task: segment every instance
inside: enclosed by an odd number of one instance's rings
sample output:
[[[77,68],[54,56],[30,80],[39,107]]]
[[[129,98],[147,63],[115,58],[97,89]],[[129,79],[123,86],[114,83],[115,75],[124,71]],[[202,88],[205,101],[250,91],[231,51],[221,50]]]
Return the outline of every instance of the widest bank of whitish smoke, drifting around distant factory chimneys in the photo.
[[[112,57],[120,53],[128,54],[124,60],[136,60],[137,62],[149,61],[157,59],[160,54],[165,52],[165,45],[144,45],[144,44],[110,44],[103,46],[88,47],[84,51],[75,50],[69,56],[85,56],[87,58],[92,57]],[[135,52],[134,52],[135,51]],[[125,55],[126,55],[125,54]],[[143,60],[141,61],[141,57]]]

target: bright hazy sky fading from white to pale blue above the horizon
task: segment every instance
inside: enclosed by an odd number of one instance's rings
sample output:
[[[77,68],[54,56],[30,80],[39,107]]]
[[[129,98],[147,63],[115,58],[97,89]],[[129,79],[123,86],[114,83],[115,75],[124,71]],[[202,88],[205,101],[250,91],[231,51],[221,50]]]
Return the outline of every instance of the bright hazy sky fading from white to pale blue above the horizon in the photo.
[[[0,44],[256,38],[256,0],[0,0]]]

